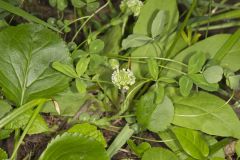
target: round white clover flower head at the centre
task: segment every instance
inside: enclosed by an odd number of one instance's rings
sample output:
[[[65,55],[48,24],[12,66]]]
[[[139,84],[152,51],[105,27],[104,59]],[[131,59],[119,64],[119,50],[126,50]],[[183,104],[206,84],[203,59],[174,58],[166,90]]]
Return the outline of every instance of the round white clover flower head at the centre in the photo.
[[[112,82],[119,89],[128,90],[129,86],[135,83],[135,76],[130,69],[121,69],[117,68],[112,74]]]

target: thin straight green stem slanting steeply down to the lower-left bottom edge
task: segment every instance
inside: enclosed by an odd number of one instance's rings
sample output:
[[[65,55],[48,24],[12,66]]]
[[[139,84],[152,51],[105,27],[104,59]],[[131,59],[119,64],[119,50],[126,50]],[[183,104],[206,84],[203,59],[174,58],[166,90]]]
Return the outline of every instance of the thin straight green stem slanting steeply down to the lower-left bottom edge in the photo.
[[[20,145],[22,144],[24,137],[25,137],[26,134],[28,133],[30,127],[31,127],[32,124],[33,124],[33,122],[35,121],[35,119],[36,119],[38,113],[41,111],[41,109],[42,109],[44,103],[45,103],[45,101],[41,102],[41,103],[38,105],[38,107],[35,109],[35,111],[34,111],[32,117],[31,117],[31,119],[29,120],[27,126],[25,127],[25,129],[24,129],[24,131],[23,131],[23,133],[22,133],[22,135],[21,135],[21,137],[20,137],[18,143],[17,143],[16,146],[14,147],[13,154],[12,154],[12,156],[11,156],[11,158],[10,158],[11,160],[13,160],[14,157],[17,155],[18,148],[19,148]]]

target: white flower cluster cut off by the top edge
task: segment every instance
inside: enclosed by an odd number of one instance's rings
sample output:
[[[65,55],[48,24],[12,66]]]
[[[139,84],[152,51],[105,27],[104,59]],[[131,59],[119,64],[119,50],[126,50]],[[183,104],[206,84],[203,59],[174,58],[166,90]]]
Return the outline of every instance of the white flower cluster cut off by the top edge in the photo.
[[[140,0],[122,0],[120,8],[123,12],[130,10],[137,17],[140,14],[142,6],[143,3]]]

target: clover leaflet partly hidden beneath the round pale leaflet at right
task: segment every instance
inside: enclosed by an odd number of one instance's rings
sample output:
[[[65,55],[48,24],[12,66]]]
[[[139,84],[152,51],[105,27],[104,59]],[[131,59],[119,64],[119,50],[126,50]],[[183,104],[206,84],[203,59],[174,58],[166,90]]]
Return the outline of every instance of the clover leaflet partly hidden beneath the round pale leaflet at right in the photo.
[[[188,75],[189,78],[200,88],[206,91],[217,91],[219,89],[219,85],[217,83],[208,83],[202,74],[191,74]]]

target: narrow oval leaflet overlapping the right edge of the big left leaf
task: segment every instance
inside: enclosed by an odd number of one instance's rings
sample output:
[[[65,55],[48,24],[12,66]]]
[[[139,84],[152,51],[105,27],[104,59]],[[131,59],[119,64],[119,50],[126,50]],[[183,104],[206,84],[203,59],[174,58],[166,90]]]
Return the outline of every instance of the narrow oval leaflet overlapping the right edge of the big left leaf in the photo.
[[[78,77],[78,75],[75,72],[74,68],[72,66],[70,66],[70,65],[62,64],[60,62],[53,62],[52,67],[55,70],[65,74],[65,75],[67,75],[69,77],[72,77],[72,78],[77,78]]]

